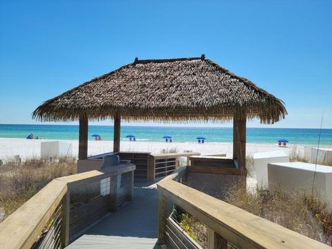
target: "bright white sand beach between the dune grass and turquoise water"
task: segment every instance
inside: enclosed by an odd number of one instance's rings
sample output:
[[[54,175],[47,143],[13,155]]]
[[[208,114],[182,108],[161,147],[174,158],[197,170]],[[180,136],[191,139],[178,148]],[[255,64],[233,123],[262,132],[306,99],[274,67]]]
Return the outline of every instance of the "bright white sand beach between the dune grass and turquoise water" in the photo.
[[[6,160],[12,156],[19,155],[21,158],[32,158],[40,156],[40,143],[50,140],[28,140],[23,138],[0,138],[0,159]],[[78,154],[78,140],[62,140],[73,145],[73,155]],[[256,152],[264,151],[285,151],[290,153],[293,145],[290,147],[278,147],[277,144],[247,144],[246,154],[253,155]],[[113,150],[113,141],[89,141],[89,156],[103,154]],[[227,154],[232,156],[231,142],[206,142],[201,145],[196,142],[130,142],[121,141],[121,151],[149,151],[152,153],[161,153],[163,149],[177,149],[178,152],[191,150],[200,152],[202,155],[208,154]],[[303,151],[303,145],[297,145],[299,151]]]

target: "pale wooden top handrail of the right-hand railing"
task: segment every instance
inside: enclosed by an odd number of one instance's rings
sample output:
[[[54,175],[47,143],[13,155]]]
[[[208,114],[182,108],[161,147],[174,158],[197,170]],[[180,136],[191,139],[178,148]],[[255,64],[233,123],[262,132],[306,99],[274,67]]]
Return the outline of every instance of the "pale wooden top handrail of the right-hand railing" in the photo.
[[[239,248],[330,248],[176,181],[162,181],[157,186],[166,199]]]

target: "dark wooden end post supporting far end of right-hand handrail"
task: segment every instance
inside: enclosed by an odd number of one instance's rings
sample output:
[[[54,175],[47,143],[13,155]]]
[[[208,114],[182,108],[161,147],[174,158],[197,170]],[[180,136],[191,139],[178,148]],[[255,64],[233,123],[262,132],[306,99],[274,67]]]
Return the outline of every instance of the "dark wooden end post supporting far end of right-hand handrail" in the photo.
[[[163,195],[163,190],[158,190],[158,244],[165,245],[166,239],[166,219],[167,219],[167,199]]]

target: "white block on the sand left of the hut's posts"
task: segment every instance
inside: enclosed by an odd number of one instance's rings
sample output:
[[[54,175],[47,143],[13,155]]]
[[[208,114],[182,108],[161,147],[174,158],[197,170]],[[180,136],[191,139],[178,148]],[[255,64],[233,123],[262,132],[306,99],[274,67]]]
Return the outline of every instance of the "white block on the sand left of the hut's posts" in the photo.
[[[57,157],[57,156],[73,156],[73,146],[67,142],[51,141],[41,142],[40,156]]]

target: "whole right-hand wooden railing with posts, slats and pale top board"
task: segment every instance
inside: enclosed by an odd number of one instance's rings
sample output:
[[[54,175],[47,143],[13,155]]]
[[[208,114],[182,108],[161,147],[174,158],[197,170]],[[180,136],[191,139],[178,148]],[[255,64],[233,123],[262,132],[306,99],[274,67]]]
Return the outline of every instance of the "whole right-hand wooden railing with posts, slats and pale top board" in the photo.
[[[170,219],[171,202],[207,227],[207,248],[224,249],[228,244],[232,248],[331,248],[178,183],[181,180],[179,174],[183,174],[183,169],[157,183],[159,244],[167,244],[170,248],[201,248]]]

